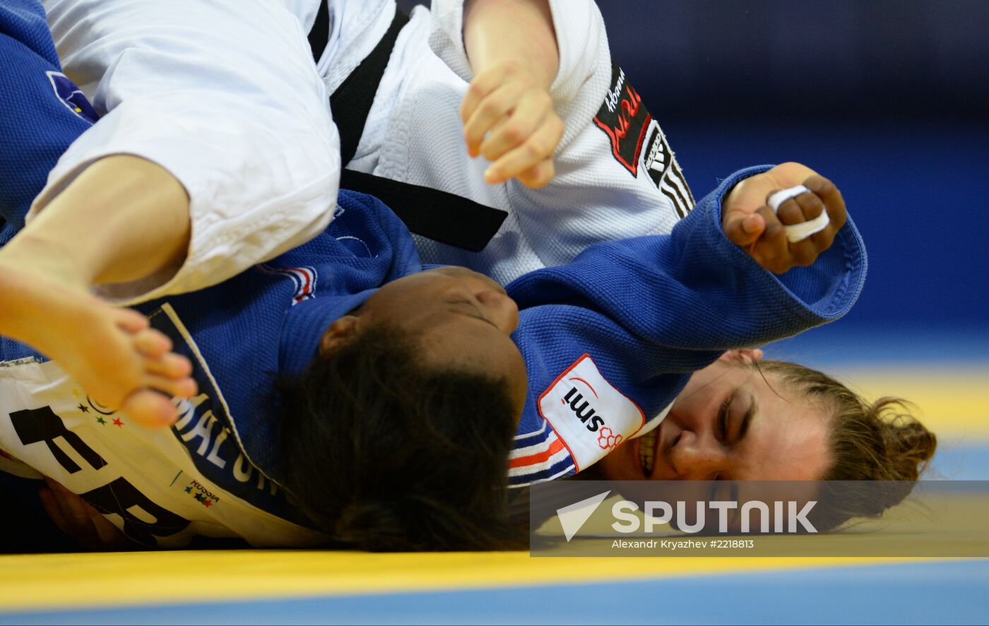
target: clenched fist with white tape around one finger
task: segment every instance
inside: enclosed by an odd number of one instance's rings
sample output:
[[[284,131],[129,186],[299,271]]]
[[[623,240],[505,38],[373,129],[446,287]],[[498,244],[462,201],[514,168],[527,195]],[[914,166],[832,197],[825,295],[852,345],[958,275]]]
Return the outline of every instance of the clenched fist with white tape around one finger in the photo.
[[[773,211],[769,206],[772,195],[797,185],[808,191],[788,198]],[[829,223],[822,229],[796,241],[787,239],[786,226],[812,222],[825,211]],[[834,183],[799,163],[783,163],[740,182],[725,197],[721,212],[728,238],[774,274],[812,264],[831,247],[847,219],[845,200]]]

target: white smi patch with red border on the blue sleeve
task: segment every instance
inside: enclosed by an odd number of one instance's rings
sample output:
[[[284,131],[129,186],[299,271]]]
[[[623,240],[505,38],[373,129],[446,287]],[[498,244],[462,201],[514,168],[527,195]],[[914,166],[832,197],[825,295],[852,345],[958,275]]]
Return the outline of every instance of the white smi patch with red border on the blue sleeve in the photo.
[[[584,354],[539,397],[539,414],[570,451],[577,471],[593,465],[646,423],[639,405],[622,395]]]

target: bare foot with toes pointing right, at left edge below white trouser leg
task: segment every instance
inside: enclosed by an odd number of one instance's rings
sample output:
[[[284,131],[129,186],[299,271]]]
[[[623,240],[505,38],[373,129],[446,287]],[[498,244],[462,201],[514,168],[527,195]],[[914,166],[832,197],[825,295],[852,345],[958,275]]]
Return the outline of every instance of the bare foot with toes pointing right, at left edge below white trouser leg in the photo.
[[[145,426],[167,426],[171,397],[196,394],[192,364],[144,315],[44,272],[0,263],[0,334],[57,361],[94,401]]]

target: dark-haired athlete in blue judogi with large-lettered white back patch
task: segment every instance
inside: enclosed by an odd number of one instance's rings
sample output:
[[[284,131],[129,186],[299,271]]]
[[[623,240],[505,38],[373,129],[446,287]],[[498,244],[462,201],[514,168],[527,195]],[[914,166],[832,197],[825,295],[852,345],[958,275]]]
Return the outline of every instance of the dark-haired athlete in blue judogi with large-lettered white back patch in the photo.
[[[34,194],[95,115],[59,73],[41,9],[17,4],[0,10],[5,243],[27,240],[16,232]],[[135,306],[196,383],[167,394],[178,417],[162,428],[98,402],[67,372],[75,362],[58,354],[84,350],[77,336],[48,347],[24,330],[21,309],[60,313],[35,304],[42,297],[19,278],[27,270],[0,250],[10,287],[0,331],[34,345],[0,341],[0,470],[56,481],[146,546],[507,545],[509,484],[566,477],[609,454],[650,478],[659,470],[640,465],[636,437],[657,430],[695,372],[852,307],[865,253],[827,181],[808,184],[837,234],[812,265],[774,276],[726,238],[726,196],[766,170],[726,178],[671,235],[600,243],[504,289],[463,268],[423,267],[388,207],[341,191],[332,223],[308,243]],[[89,311],[83,298],[73,306]]]

